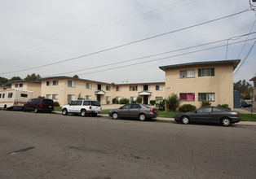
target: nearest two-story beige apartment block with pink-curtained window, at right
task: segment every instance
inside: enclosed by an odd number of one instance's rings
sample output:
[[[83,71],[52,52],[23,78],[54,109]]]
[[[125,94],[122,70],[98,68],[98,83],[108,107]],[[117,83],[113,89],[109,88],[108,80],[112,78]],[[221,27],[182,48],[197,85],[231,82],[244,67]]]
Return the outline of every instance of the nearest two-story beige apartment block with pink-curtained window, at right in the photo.
[[[174,93],[183,104],[201,107],[227,103],[233,108],[233,70],[240,60],[183,63],[160,67],[166,72],[166,94]]]

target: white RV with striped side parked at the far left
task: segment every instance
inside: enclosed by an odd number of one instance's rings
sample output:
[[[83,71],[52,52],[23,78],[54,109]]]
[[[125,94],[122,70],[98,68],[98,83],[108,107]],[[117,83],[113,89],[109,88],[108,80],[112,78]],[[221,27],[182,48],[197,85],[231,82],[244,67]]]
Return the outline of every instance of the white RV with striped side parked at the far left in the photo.
[[[32,91],[23,89],[0,90],[0,108],[22,110],[24,103],[27,103],[32,96]]]

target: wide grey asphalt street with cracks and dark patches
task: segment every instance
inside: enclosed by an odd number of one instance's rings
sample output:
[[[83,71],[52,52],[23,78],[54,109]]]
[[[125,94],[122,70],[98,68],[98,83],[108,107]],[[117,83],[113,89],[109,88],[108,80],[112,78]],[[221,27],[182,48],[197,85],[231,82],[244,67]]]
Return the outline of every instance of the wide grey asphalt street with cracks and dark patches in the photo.
[[[0,111],[0,178],[255,178],[256,125]]]

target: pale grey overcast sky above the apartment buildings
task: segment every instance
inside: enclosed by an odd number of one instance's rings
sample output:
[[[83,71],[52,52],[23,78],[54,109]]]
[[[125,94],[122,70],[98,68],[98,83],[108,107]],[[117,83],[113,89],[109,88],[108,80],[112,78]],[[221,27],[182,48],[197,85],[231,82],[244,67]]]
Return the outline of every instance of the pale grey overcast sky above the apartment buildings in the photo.
[[[24,78],[35,72],[42,77],[77,74],[82,79],[109,83],[165,81],[160,66],[243,61],[255,41],[239,42],[248,37],[237,37],[256,31],[256,24],[251,30],[256,19],[254,11],[179,30],[250,9],[248,0],[0,2],[0,76],[6,78]],[[168,34],[154,37],[163,33]],[[148,37],[154,38],[139,41]],[[180,50],[231,37],[237,38]],[[256,33],[248,39],[255,37]],[[234,42],[239,43],[232,45]],[[214,46],[222,47],[205,50]],[[173,50],[179,51],[157,55]],[[196,50],[202,51],[183,55]],[[235,70],[235,82],[249,81],[256,75],[255,55],[256,45],[239,72]]]

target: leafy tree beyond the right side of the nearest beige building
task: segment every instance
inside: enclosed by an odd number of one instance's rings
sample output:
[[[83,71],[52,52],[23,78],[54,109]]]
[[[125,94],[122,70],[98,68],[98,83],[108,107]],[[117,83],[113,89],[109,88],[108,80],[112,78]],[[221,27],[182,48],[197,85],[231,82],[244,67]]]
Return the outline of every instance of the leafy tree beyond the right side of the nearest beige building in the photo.
[[[237,81],[234,83],[234,90],[239,91],[241,94],[242,99],[250,99],[251,98],[251,92],[253,90],[253,86],[249,84],[249,82],[243,81]]]

